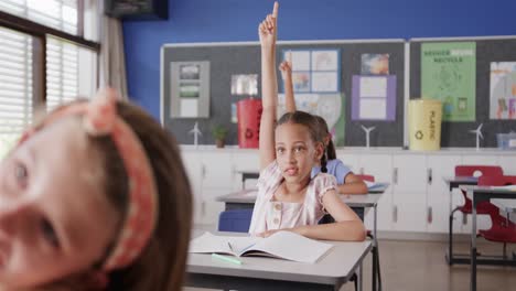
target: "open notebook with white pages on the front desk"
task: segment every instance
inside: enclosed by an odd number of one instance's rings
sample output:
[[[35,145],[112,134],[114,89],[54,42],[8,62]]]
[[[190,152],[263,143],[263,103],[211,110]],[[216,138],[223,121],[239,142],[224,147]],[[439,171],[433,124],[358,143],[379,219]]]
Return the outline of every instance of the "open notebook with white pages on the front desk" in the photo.
[[[278,231],[267,238],[216,236],[211,233],[190,241],[189,252],[225,254],[235,257],[271,257],[314,263],[333,246],[291,231]]]

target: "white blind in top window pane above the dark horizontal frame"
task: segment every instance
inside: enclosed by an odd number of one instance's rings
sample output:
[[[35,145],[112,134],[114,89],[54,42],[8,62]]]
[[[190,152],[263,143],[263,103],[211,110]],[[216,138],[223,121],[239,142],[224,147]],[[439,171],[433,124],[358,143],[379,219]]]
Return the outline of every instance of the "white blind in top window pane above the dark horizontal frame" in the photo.
[[[77,0],[0,0],[0,10],[77,34]]]

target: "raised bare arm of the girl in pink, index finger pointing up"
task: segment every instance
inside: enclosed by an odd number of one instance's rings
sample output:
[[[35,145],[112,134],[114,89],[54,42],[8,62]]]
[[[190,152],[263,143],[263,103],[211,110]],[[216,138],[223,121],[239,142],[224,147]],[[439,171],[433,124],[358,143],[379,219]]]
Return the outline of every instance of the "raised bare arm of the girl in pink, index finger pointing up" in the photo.
[[[261,45],[261,101],[264,111],[260,119],[260,170],[276,160],[275,122],[278,106],[278,82],[276,79],[276,37],[278,34],[278,2],[272,14],[258,26]]]

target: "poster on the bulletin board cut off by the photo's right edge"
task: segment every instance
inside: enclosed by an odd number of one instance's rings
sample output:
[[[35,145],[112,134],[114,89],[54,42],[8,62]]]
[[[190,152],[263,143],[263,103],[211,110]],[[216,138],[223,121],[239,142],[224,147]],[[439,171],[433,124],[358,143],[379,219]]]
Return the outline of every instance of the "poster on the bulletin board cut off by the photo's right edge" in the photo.
[[[491,63],[491,119],[516,119],[516,62]]]

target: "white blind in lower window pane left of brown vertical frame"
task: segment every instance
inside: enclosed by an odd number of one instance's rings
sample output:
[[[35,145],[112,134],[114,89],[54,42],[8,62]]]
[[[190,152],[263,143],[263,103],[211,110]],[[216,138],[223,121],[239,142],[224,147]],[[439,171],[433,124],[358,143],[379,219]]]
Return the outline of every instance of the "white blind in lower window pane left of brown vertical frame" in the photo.
[[[0,26],[0,157],[32,120],[32,37]]]

